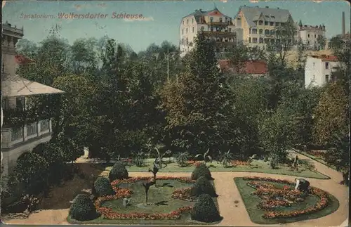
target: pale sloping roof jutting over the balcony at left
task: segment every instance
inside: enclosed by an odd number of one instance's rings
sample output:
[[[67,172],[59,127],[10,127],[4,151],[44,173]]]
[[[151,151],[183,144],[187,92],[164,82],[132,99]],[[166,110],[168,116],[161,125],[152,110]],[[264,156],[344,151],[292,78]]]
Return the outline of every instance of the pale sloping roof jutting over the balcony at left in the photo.
[[[64,92],[54,89],[51,86],[32,82],[18,75],[3,74],[1,77],[1,95],[3,97],[34,96]]]

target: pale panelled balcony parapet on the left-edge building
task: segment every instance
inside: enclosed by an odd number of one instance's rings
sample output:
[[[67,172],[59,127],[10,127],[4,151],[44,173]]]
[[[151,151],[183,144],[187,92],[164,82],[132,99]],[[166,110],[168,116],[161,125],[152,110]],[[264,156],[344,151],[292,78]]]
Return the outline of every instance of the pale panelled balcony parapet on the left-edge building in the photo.
[[[24,127],[3,127],[1,129],[1,150],[10,150],[25,143],[51,136],[51,123],[51,119],[42,119],[38,122],[25,124]]]

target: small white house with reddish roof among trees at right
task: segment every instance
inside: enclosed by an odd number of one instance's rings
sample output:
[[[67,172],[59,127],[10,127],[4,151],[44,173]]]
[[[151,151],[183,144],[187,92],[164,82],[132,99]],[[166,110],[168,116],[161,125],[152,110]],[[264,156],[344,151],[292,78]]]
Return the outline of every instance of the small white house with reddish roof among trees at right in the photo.
[[[332,73],[335,72],[340,63],[336,56],[308,56],[305,65],[305,88],[312,86],[324,86],[334,81]]]

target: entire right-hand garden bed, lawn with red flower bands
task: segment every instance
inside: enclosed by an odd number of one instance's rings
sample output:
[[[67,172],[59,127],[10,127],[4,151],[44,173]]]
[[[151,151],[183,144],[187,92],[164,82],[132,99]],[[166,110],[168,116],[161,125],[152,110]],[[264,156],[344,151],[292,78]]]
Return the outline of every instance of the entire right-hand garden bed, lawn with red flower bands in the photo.
[[[260,224],[317,219],[335,212],[339,202],[324,190],[310,186],[308,193],[295,183],[260,177],[234,179],[251,221]]]

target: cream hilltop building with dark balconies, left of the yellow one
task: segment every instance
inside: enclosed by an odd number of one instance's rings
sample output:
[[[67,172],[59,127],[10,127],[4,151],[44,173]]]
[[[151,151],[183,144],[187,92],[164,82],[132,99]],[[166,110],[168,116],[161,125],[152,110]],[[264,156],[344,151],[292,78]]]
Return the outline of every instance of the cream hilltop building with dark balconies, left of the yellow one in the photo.
[[[199,9],[185,16],[180,22],[181,57],[194,48],[194,41],[199,32],[216,41],[216,53],[225,52],[228,47],[237,44],[232,18],[218,11],[216,7],[211,11]]]

